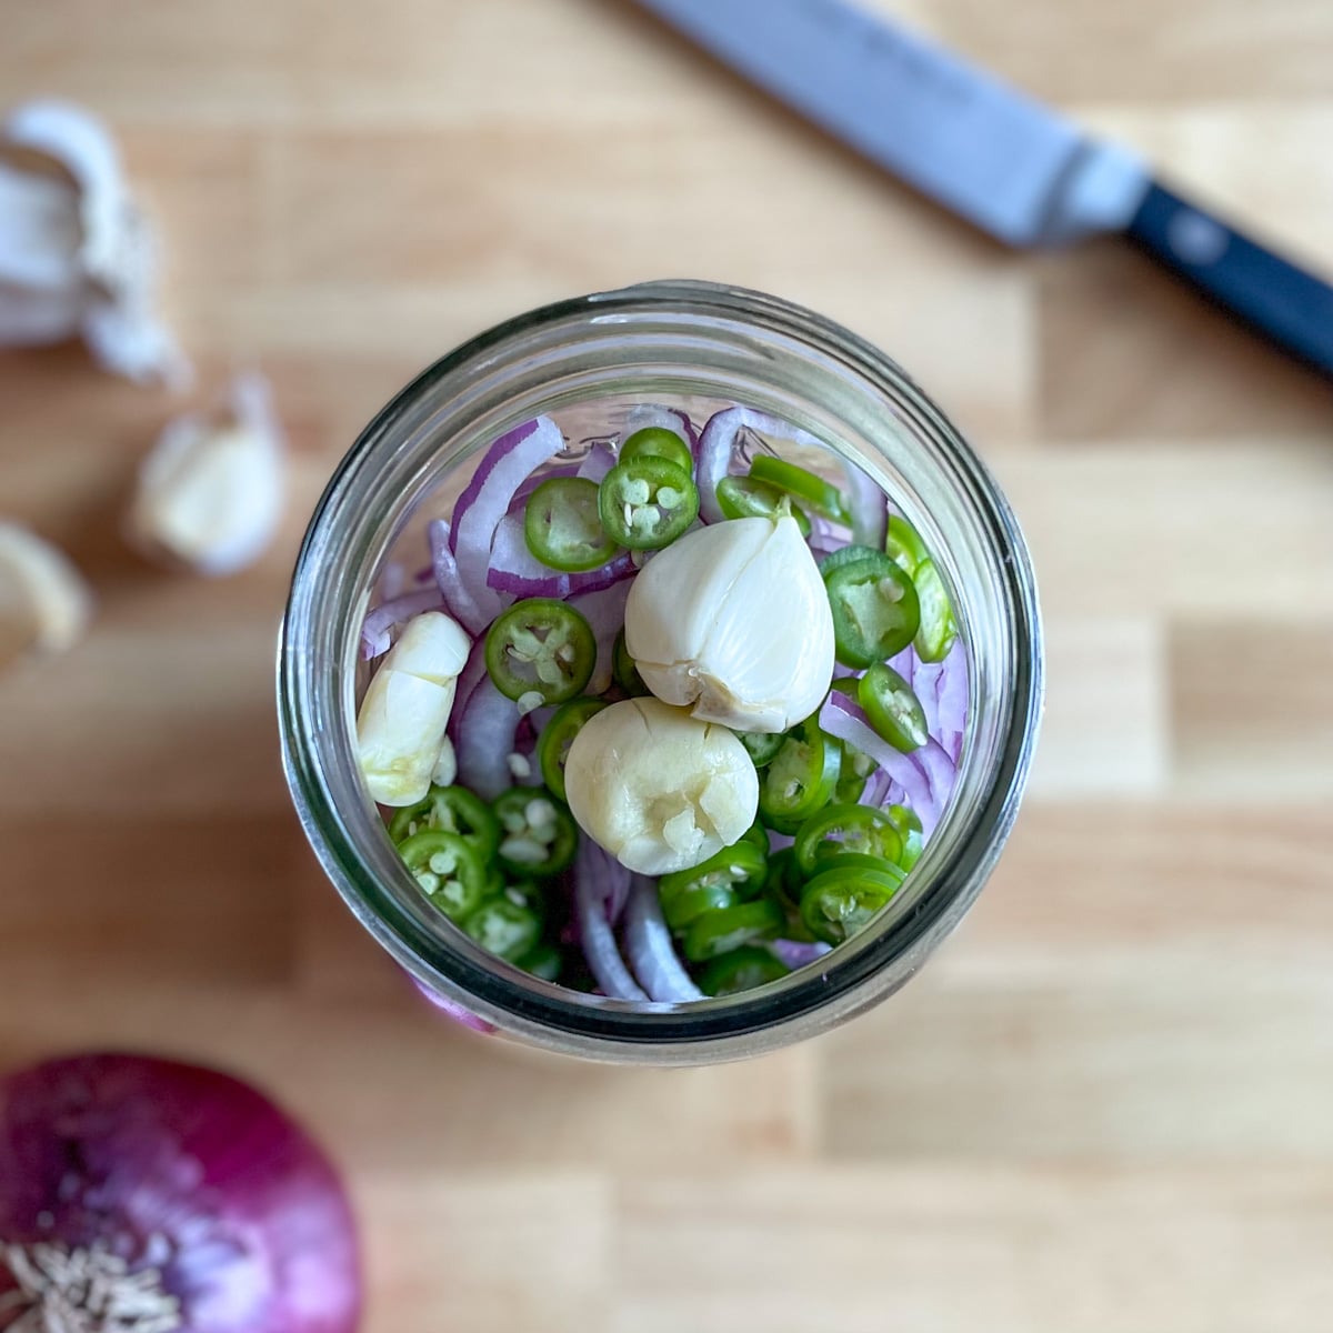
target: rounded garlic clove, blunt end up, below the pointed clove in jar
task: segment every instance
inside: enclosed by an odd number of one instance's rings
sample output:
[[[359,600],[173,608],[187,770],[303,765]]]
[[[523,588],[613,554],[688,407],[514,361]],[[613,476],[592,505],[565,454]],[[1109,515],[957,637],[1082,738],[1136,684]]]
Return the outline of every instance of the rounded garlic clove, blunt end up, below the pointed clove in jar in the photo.
[[[579,826],[621,865],[669,874],[706,861],[754,822],[758,774],[726,728],[656,698],[628,698],[575,737],[565,796]]]

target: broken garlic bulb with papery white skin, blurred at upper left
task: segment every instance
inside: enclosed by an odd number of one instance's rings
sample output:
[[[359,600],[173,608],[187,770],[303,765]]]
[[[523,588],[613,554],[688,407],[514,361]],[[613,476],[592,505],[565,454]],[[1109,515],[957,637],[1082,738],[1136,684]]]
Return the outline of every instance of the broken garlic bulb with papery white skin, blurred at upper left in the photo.
[[[0,347],[83,336],[132,380],[189,383],[157,319],[157,252],[105,125],[53,100],[0,125]]]

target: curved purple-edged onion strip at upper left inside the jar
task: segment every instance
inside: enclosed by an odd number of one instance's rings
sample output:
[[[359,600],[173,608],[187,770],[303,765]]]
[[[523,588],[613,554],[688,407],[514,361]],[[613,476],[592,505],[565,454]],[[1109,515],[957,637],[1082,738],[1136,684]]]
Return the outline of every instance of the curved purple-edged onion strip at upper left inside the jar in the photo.
[[[500,595],[487,587],[496,528],[519,487],[564,447],[560,427],[551,417],[524,421],[487,449],[455,505],[449,549],[457,561],[463,587],[488,620],[497,616],[504,605]],[[449,589],[445,588],[444,593],[448,597]]]

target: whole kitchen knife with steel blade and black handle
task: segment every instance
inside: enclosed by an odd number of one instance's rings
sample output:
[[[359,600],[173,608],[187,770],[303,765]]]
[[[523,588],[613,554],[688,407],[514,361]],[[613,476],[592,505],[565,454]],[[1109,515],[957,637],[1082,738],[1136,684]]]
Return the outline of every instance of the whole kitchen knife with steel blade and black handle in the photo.
[[[1333,287],[1153,180],[1137,155],[844,0],[639,0],[753,83],[1010,245],[1122,233],[1333,376]]]

